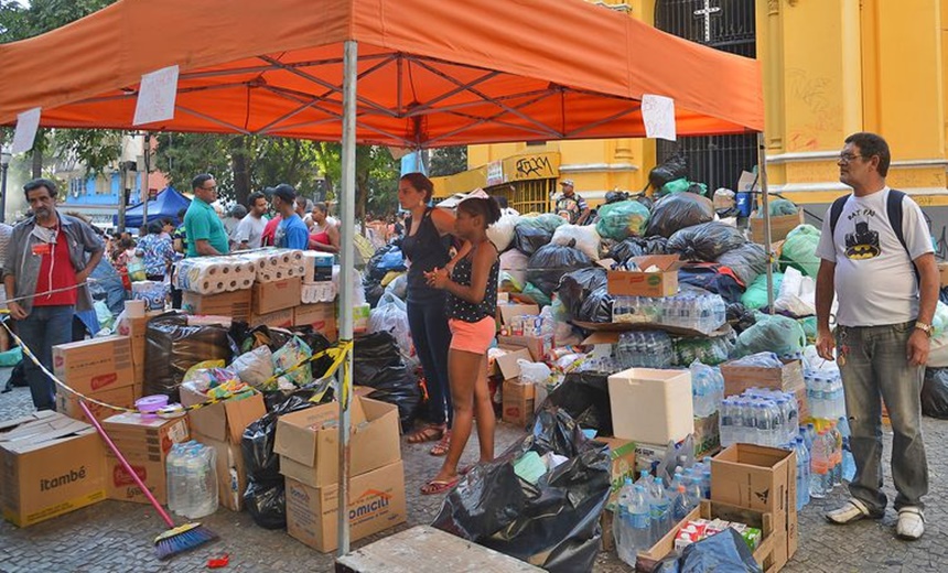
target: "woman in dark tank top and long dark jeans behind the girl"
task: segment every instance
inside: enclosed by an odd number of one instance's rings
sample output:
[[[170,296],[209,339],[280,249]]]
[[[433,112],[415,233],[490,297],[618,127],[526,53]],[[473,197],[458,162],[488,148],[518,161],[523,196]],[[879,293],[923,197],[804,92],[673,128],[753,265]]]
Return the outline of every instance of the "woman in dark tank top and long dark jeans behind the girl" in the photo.
[[[428,407],[421,417],[425,424],[408,436],[418,444],[438,440],[432,455],[444,455],[451,440],[453,409],[448,386],[448,346],[451,331],[444,314],[444,292],[432,289],[424,273],[433,269],[453,268],[450,234],[454,231],[454,215],[445,209],[429,207],[434,185],[421,173],[408,173],[398,183],[398,202],[410,216],[405,221],[401,251],[408,267],[408,325],[411,340],[421,360],[428,385]],[[466,252],[466,248],[462,248]]]

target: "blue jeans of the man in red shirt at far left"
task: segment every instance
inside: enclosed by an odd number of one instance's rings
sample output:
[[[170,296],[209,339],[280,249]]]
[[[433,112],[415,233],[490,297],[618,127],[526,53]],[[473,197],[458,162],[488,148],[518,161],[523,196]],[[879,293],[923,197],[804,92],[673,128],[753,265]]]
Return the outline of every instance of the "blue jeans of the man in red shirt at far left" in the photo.
[[[53,346],[73,342],[75,306],[33,306],[30,315],[17,321],[17,333],[50,371],[53,371]],[[23,370],[36,410],[56,409],[56,385],[30,358],[23,357]]]

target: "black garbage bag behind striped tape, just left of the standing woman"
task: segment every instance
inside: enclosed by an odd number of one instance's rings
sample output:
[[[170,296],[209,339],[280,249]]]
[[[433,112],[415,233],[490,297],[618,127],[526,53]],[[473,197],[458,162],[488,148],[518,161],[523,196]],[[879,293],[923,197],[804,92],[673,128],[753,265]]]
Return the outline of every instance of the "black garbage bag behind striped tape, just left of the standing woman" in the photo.
[[[411,425],[421,404],[421,389],[413,372],[408,371],[391,333],[380,331],[356,337],[353,380],[375,388],[368,398],[397,406],[402,428]]]

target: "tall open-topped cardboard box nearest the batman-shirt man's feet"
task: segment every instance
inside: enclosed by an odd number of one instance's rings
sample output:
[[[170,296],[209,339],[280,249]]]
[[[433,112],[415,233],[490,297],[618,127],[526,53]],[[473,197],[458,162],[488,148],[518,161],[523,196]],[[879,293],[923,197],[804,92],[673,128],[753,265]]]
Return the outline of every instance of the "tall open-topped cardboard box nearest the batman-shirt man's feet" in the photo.
[[[711,458],[711,500],[771,513],[776,541],[774,565],[794,556],[797,531],[796,453],[734,444]]]

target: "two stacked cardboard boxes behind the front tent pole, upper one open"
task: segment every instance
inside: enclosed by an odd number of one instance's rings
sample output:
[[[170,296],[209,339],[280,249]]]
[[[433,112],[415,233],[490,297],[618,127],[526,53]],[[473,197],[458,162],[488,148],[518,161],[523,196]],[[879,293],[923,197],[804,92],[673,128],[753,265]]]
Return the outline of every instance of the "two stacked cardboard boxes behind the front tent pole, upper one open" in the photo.
[[[352,540],[406,519],[398,409],[356,396],[352,402],[348,516]],[[319,551],[337,547],[338,404],[289,413],[273,451],[287,479],[287,530]]]

